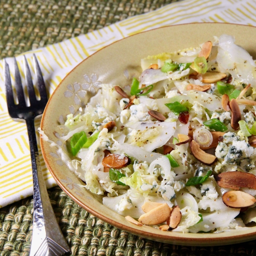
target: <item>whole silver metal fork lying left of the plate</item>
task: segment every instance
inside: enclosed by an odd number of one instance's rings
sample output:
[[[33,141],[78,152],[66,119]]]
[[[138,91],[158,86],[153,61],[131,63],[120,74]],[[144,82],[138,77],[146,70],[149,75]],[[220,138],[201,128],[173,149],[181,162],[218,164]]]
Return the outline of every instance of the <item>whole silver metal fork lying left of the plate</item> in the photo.
[[[35,89],[32,82],[32,77],[29,71],[29,66],[24,56],[25,64],[25,80],[29,95],[30,106],[26,106],[23,87],[20,79],[20,73],[16,59],[15,67],[15,88],[17,92],[18,104],[14,102],[12,83],[10,78],[9,65],[4,60],[5,84],[6,84],[6,99],[9,115],[15,121],[25,121],[29,135],[29,145],[32,162],[32,175],[34,185],[34,218],[33,218],[33,233],[32,243],[29,256],[60,256],[70,251],[67,241],[64,239],[61,229],[58,226],[55,214],[50,203],[47,189],[44,183],[44,177],[41,170],[38,147],[35,137],[34,119],[36,116],[44,112],[47,104],[47,92],[44,84],[44,79],[38,65],[38,61],[34,57],[35,73],[38,80],[38,90],[40,100],[36,99]]]

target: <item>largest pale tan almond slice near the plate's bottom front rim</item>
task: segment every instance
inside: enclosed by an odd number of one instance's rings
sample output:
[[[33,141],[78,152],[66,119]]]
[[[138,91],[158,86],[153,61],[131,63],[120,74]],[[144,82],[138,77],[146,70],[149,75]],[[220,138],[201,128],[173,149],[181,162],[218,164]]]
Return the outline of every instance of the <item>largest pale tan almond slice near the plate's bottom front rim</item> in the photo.
[[[140,216],[138,221],[145,225],[156,225],[163,223],[170,216],[170,207],[168,204],[162,204],[151,211]]]

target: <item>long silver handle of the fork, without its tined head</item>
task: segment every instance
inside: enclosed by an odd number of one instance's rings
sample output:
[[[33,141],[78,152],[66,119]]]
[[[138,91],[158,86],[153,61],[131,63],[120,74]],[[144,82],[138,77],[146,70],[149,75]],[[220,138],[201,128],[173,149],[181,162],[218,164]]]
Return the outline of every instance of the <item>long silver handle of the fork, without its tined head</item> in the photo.
[[[26,119],[34,185],[33,233],[29,256],[60,256],[70,248],[58,226],[44,183],[38,154],[34,118]]]

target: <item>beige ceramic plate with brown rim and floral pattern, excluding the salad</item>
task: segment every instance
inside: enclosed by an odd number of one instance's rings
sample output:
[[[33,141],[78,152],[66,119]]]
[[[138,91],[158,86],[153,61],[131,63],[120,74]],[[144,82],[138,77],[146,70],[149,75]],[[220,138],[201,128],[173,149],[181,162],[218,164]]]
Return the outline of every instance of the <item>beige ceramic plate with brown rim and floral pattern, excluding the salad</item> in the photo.
[[[85,93],[85,90],[88,90],[89,86],[97,87],[100,82],[121,86],[131,84],[131,80],[126,76],[139,75],[141,58],[161,52],[198,47],[205,41],[213,41],[214,35],[222,34],[233,35],[236,44],[244,47],[256,59],[256,27],[235,24],[195,23],[168,26],[125,38],[101,49],[81,62],[59,84],[44,111],[41,128],[50,140],[61,144],[58,140],[61,131],[57,125],[64,122],[67,114],[77,111],[80,102],[87,102],[90,93]],[[183,234],[136,226],[105,207],[99,196],[77,186],[76,184],[84,183],[59,159],[56,147],[50,147],[49,143],[41,140],[41,148],[52,176],[67,195],[88,212],[122,230],[160,242],[183,245],[234,244],[256,239],[256,227],[218,234]]]

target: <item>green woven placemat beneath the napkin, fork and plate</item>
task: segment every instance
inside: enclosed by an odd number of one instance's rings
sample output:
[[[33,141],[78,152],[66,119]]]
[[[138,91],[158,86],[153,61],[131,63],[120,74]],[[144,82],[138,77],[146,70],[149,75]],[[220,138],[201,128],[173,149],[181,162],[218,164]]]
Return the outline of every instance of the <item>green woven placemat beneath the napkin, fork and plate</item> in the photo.
[[[1,0],[0,59],[108,26],[177,0]],[[246,256],[255,241],[216,247],[163,244],[119,230],[79,207],[58,186],[48,190],[72,255]],[[32,197],[0,209],[0,256],[28,256]]]

